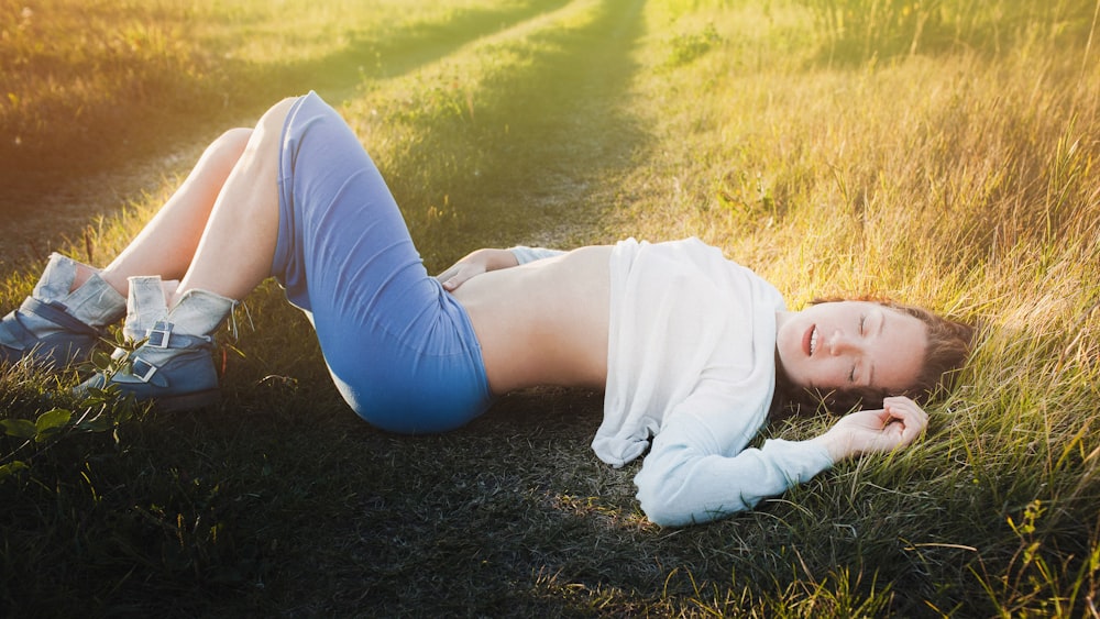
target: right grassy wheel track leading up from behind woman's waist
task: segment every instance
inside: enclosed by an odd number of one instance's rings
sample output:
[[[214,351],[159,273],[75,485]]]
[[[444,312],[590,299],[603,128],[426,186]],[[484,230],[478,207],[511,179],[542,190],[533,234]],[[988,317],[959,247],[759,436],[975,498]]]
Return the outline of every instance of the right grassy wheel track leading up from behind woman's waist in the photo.
[[[604,214],[620,199],[622,181],[648,141],[630,92],[644,5],[604,0],[583,26],[541,33],[536,48],[554,51],[492,85],[493,102],[477,111],[485,126],[471,137],[484,142],[477,169],[448,188],[463,222],[447,244],[608,241]],[[399,187],[395,194],[400,201]],[[431,244],[421,252],[431,263]]]

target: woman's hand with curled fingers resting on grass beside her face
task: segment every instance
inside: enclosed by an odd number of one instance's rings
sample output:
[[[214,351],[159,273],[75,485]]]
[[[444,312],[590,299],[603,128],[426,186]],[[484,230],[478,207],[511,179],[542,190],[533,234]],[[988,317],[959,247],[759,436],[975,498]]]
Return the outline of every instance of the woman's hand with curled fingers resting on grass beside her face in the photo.
[[[828,450],[833,462],[840,462],[864,453],[904,447],[928,427],[928,413],[906,397],[886,398],[882,407],[847,414],[814,441]]]

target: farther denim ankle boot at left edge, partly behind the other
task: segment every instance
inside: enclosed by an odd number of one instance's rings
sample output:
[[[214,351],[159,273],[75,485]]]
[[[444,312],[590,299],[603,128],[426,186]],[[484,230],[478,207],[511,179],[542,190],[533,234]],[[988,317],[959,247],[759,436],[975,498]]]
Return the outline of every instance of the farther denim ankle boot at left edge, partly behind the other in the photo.
[[[0,362],[64,368],[87,360],[103,329],[122,318],[125,298],[99,274],[69,291],[76,269],[76,261],[50,256],[31,296],[0,321]]]

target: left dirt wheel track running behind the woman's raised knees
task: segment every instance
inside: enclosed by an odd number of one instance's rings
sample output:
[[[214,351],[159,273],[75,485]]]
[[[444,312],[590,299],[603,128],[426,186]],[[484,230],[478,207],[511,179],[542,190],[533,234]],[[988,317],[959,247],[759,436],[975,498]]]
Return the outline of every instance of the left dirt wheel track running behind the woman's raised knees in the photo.
[[[81,164],[79,170],[66,169],[64,163],[52,166],[48,158],[25,161],[20,159],[22,155],[11,155],[15,161],[0,161],[0,274],[19,268],[28,259],[44,258],[66,240],[82,246],[85,230],[95,226],[100,217],[111,215],[128,201],[160,191],[166,181],[186,174],[210,140],[227,128],[255,122],[279,97],[316,89],[339,100],[352,96],[364,78],[413,71],[470,41],[566,2],[550,0],[469,11],[447,23],[358,42],[321,60],[275,67],[268,71],[271,75],[250,76],[262,88],[216,118],[163,118],[150,113],[147,118],[131,119],[131,125],[119,128],[116,143],[92,151],[101,161]],[[66,148],[88,152],[89,146],[75,144]],[[72,159],[75,155],[67,156]]]

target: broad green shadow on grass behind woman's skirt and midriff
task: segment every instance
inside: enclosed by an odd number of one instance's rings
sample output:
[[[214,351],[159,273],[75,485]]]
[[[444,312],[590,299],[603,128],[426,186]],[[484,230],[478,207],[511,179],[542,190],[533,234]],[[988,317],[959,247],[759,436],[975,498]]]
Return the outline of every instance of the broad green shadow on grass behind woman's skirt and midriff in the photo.
[[[461,117],[419,122],[418,144],[378,162],[430,269],[482,246],[602,240],[647,142],[629,92],[642,4],[609,0],[583,27],[530,35],[529,65],[490,77]]]

